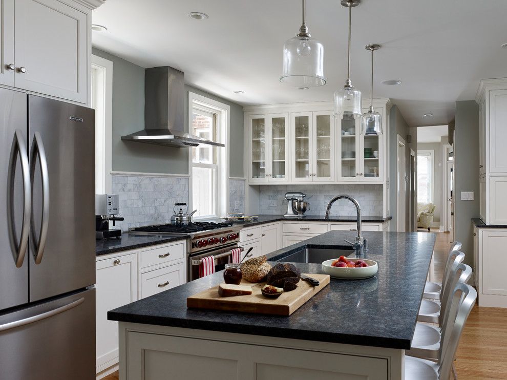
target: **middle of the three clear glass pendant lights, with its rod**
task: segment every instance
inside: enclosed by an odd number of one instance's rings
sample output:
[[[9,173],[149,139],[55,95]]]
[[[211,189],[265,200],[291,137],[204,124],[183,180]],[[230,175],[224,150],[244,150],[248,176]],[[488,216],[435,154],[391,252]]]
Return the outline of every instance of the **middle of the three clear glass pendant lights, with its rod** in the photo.
[[[352,7],[358,6],[361,0],[342,0],[340,4],[349,8],[349,50],[347,55],[347,80],[341,90],[334,92],[334,116],[335,117],[363,117],[361,107],[361,91],[355,90],[350,81],[350,30],[352,22]]]

